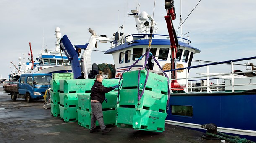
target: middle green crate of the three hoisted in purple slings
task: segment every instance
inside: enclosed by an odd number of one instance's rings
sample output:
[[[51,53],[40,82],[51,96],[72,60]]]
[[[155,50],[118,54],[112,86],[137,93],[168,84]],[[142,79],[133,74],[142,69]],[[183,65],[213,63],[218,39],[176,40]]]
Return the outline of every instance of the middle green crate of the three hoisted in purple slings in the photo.
[[[140,94],[142,89],[140,90]],[[121,89],[119,107],[141,108],[158,112],[166,112],[168,95],[144,90],[138,101],[138,89]]]

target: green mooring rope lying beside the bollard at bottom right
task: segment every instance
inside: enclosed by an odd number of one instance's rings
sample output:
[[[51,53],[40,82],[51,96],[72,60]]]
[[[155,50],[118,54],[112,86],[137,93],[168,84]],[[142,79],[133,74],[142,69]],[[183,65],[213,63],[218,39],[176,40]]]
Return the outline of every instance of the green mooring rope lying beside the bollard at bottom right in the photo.
[[[220,132],[217,132],[218,135],[215,135],[213,133],[208,133],[206,131],[206,134],[210,135],[210,136],[213,136],[213,137],[216,137],[216,138],[220,138],[220,139],[229,141],[230,143],[255,143],[251,140],[247,140],[246,138],[240,138],[239,136],[227,135],[227,134],[220,133]]]

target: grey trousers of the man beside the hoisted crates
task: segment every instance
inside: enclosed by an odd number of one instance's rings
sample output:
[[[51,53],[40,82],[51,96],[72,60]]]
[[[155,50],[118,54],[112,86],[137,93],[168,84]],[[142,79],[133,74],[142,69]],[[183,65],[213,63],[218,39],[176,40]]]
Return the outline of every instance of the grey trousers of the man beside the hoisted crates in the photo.
[[[102,104],[100,102],[91,102],[91,130],[95,128],[96,120],[98,120],[101,130],[105,130],[106,125],[103,120]]]

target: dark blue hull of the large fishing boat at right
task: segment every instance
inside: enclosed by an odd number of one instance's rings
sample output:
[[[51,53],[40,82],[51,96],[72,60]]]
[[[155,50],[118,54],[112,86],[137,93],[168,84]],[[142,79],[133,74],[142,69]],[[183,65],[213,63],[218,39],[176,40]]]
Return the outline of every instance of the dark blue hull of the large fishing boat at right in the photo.
[[[192,106],[193,115],[172,115],[171,105]],[[241,131],[236,134],[247,135],[242,132],[249,130],[256,135],[255,92],[175,94],[170,95],[169,107],[166,120],[199,125],[214,123],[217,127]],[[255,136],[253,138],[256,140]]]

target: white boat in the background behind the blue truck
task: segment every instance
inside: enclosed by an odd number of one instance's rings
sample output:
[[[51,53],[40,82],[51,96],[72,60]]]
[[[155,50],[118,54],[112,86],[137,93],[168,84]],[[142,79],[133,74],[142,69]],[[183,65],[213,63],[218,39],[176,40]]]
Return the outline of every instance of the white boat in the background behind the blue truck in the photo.
[[[64,52],[60,51],[60,28],[55,28],[56,42],[55,50],[48,50],[47,48],[42,51],[36,58],[37,62],[33,60],[33,54],[31,52],[31,60],[25,63],[25,56],[23,58],[23,64],[21,64],[21,57],[19,58],[18,67],[13,64],[17,72],[14,70],[9,75],[10,80],[18,80],[19,75],[23,73],[65,73],[72,72],[70,62]],[[30,53],[29,53],[30,55]]]

